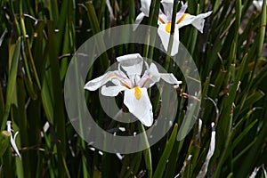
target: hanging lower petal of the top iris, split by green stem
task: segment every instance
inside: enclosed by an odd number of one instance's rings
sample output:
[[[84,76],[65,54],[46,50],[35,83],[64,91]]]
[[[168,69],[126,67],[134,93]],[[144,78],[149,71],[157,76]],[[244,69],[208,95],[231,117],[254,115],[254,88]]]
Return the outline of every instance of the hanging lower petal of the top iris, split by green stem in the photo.
[[[170,33],[166,31],[166,24],[162,24],[158,26],[158,36],[160,37],[163,47],[167,52],[169,39],[170,39]],[[171,51],[171,56],[174,56],[176,53],[178,53],[179,43],[180,43],[179,42],[179,29],[175,25],[174,43],[173,43],[173,47]]]

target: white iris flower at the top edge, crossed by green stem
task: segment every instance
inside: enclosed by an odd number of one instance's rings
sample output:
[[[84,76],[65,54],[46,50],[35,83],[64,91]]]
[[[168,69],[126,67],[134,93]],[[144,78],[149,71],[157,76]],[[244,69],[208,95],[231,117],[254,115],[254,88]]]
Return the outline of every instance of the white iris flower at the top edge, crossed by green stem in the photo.
[[[162,0],[161,4],[163,4],[165,13],[161,11],[159,12],[158,36],[162,41],[164,49],[167,51],[171,33],[171,26],[172,26],[174,1]],[[190,15],[189,13],[185,13],[186,9],[187,9],[187,3],[182,4],[181,10],[177,12],[175,16],[174,43],[171,51],[172,56],[178,53],[179,28],[192,24],[195,28],[198,29],[198,31],[203,33],[204,22],[205,22],[204,18],[206,18],[212,13],[212,12],[200,13],[197,16],[195,16],[195,15]]]

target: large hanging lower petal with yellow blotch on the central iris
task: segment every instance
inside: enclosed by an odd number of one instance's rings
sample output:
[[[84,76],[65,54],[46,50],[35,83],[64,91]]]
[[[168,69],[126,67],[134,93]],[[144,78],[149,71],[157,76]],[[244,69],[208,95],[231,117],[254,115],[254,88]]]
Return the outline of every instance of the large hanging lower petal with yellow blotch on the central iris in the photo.
[[[137,117],[143,125],[153,124],[152,105],[146,88],[133,88],[125,90],[125,106]]]

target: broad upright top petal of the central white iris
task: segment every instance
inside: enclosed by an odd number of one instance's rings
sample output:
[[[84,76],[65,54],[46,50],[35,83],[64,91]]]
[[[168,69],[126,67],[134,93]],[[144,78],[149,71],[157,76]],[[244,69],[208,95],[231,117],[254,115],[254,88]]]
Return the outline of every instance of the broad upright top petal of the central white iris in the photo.
[[[139,53],[126,54],[117,57],[117,61],[122,69],[125,70],[128,77],[133,78],[136,75],[141,75],[143,59]]]

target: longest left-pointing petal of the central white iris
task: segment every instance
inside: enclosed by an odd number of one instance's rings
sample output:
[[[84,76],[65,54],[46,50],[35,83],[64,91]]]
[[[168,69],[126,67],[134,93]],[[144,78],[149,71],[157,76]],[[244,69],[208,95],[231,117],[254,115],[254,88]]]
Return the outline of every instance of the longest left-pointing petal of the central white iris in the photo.
[[[89,81],[87,84],[85,84],[85,89],[90,91],[95,91],[98,88],[101,87],[101,85],[105,85],[107,82],[109,82],[111,79],[114,79],[117,77],[117,70],[115,71],[109,71],[106,74],[104,74],[101,77],[94,78],[93,80]]]

